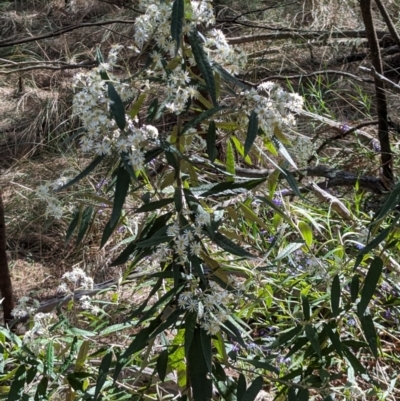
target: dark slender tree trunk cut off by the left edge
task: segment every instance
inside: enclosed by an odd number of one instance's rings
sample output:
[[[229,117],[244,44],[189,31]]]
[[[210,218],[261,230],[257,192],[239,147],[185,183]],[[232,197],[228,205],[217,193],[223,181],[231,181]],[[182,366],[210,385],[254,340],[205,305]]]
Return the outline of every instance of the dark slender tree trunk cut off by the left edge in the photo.
[[[12,283],[10,271],[8,269],[6,254],[6,222],[4,218],[4,204],[2,192],[0,189],[0,293],[3,302],[4,322],[8,323],[12,320],[11,311],[14,309],[14,296],[12,291]]]

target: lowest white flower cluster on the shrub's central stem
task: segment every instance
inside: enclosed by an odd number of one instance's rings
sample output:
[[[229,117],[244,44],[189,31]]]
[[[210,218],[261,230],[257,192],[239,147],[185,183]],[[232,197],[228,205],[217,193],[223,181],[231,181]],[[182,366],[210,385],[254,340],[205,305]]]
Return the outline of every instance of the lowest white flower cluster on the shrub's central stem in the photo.
[[[217,334],[230,314],[230,304],[235,297],[211,281],[209,288],[202,291],[198,286],[180,294],[178,305],[189,312],[197,312],[197,319],[207,334]],[[238,287],[240,287],[238,283]],[[236,297],[236,299],[238,299]]]

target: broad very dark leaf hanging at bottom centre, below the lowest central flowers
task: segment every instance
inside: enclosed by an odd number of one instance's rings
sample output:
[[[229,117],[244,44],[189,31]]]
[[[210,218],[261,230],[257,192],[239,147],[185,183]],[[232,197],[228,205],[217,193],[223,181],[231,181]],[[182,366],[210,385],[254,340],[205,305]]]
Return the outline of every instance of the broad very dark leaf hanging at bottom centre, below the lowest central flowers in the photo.
[[[200,329],[194,331],[193,340],[187,357],[187,371],[192,386],[194,401],[210,401],[212,398],[212,381],[204,359]]]

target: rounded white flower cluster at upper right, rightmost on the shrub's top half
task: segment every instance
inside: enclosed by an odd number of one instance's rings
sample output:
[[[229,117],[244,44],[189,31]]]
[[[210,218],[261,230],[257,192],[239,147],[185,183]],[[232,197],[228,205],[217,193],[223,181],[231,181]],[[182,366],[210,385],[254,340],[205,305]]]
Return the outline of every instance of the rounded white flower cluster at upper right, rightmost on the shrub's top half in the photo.
[[[243,110],[250,115],[254,110],[259,127],[267,136],[274,134],[275,127],[294,126],[294,112],[303,108],[303,98],[289,93],[273,82],[264,82],[257,88],[241,93],[244,97]]]

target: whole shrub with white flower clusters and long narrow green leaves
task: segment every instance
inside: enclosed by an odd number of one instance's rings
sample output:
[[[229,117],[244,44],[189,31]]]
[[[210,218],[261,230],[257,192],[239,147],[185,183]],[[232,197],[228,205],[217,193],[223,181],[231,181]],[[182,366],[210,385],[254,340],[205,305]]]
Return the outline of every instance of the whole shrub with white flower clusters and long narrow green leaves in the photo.
[[[60,219],[67,189],[108,160],[109,182],[95,185],[96,199],[110,192],[113,198],[107,199],[110,213],[105,203],[98,210],[108,219],[101,246],[128,226],[132,235],[112,265],[125,265],[125,276],[143,274],[150,289],[140,305],[123,310],[117,291],[101,307],[89,295],[73,300],[77,288],[93,287],[83,270],[65,274],[59,292],[72,294],[68,308],[79,302],[72,323],[87,327],[73,327],[60,311],[57,322],[35,315],[26,338],[40,346],[27,355],[38,362],[18,356],[9,399],[141,399],[154,379],[151,391],[160,399],[205,401],[218,392],[221,399],[253,401],[268,382],[276,399],[332,400],[344,377],[337,371],[347,372],[353,384],[357,374],[367,374],[355,355],[360,348],[378,355],[368,304],[382,259],[364,258],[372,249],[365,221],[355,218],[334,242],[330,222],[322,224],[275,193],[281,173],[297,190],[284,166],[304,167],[301,159],[313,152],[307,138],[293,136],[303,101],[275,83],[256,87],[235,76],[246,55],[210,28],[211,1],[142,0],[139,8],[130,48],[116,45],[107,58],[99,50],[98,66],[74,78],[73,111],[83,128],[79,151],[93,161],[75,177],[41,186],[37,197],[46,202],[47,215]],[[122,74],[122,51],[147,61],[134,74]],[[218,153],[219,143],[224,151]],[[290,149],[296,148],[295,163]],[[235,152],[248,164],[268,157],[275,173],[239,177]],[[78,231],[83,239],[93,209],[77,207],[68,238]],[[325,238],[319,247],[315,233]],[[354,260],[345,252],[354,244],[362,247],[358,265],[370,265],[361,292],[360,276],[349,273]],[[279,286],[272,288],[272,280]],[[119,313],[122,321],[115,323]],[[341,338],[352,321],[366,342]],[[123,330],[130,330],[123,346],[103,341]],[[2,333],[4,358],[7,347],[21,342]],[[89,344],[93,337],[95,345]],[[151,380],[137,386],[133,366],[138,376],[151,366]],[[8,385],[11,376],[3,382]],[[36,387],[29,386],[34,379]],[[176,384],[168,395],[164,381]]]

